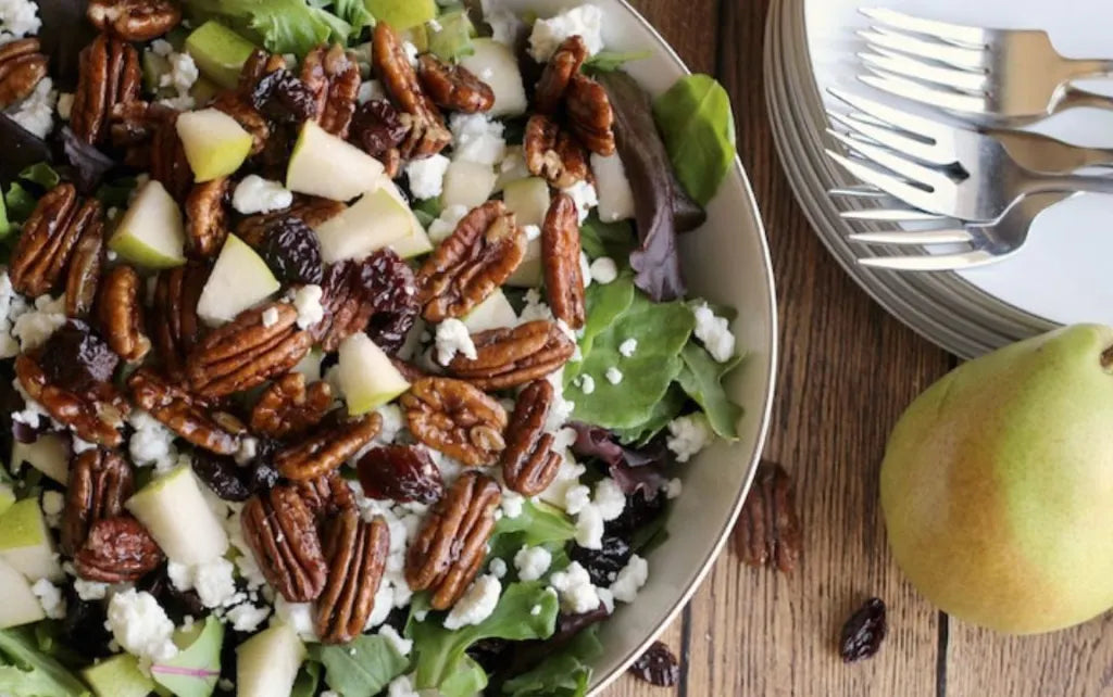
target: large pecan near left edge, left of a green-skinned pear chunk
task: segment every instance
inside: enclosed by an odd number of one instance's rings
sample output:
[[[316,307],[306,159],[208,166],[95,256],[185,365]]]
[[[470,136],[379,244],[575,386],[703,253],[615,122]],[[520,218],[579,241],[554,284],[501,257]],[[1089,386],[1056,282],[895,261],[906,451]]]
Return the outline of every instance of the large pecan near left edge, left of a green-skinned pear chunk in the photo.
[[[23,233],[11,253],[12,287],[27,296],[41,296],[59,285],[77,241],[101,227],[100,203],[83,203],[71,183],[47,191],[23,223]]]

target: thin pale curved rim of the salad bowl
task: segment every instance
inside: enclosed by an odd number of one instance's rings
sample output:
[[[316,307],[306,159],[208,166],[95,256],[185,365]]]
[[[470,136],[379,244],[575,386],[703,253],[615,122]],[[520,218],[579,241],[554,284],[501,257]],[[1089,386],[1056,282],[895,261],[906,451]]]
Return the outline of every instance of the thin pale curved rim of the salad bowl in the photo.
[[[691,69],[688,68],[688,64],[682,58],[680,58],[676,49],[672,48],[672,44],[661,36],[661,32],[659,32],[657,28],[641,14],[641,12],[630,4],[630,0],[614,1],[629,12],[633,20],[640,23],[646,31],[653,37],[658,43],[658,48],[662,50],[662,54],[666,58],[676,63],[686,76],[692,74]],[[719,556],[722,554],[722,549],[726,547],[727,540],[735,528],[735,522],[738,520],[738,516],[742,510],[742,505],[746,502],[746,496],[749,494],[750,487],[754,484],[754,477],[757,474],[758,464],[761,460],[766,440],[769,436],[769,426],[772,416],[772,401],[777,391],[777,368],[780,355],[780,322],[777,310],[777,285],[776,278],[774,277],[772,257],[769,252],[769,239],[766,235],[765,220],[761,217],[761,210],[758,206],[757,198],[754,196],[754,187],[750,183],[749,176],[746,173],[746,167],[742,165],[742,159],[737,152],[737,147],[735,152],[735,166],[731,168],[731,175],[733,176],[736,183],[740,186],[745,192],[751,212],[754,213],[754,220],[757,223],[759,237],[758,241],[761,249],[761,261],[766,271],[766,286],[769,290],[769,307],[767,310],[770,321],[770,338],[768,347],[766,347],[766,350],[762,352],[766,364],[762,368],[768,372],[769,381],[765,389],[765,404],[760,406],[760,422],[758,425],[757,440],[754,444],[754,452],[750,455],[749,471],[746,475],[743,486],[739,488],[738,495],[731,505],[730,515],[728,515],[722,521],[722,527],[716,534],[716,542],[711,548],[711,552],[701,562],[691,581],[689,581],[680,595],[677,596],[672,607],[669,608],[668,613],[666,613],[658,626],[654,627],[644,639],[636,644],[628,651],[627,656],[614,665],[610,673],[592,677],[592,686],[588,690],[588,697],[602,697],[603,690],[618,680],[618,678],[630,668],[630,665],[633,664],[633,661],[637,660],[637,658],[641,656],[650,647],[650,645],[657,640],[658,637],[661,636],[664,629],[676,621],[677,616],[684,609],[684,607],[688,606],[692,596],[695,596],[696,591],[699,590],[700,586],[702,586],[703,581],[711,572],[711,568],[715,566],[715,562],[718,561]],[[746,362],[749,361],[747,360]]]

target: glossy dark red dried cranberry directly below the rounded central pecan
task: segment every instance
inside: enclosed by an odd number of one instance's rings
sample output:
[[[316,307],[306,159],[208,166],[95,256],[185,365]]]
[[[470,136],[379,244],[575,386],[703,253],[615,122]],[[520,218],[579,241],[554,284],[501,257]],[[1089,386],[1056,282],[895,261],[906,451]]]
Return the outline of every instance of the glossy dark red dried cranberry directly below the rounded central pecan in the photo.
[[[423,448],[372,448],[359,458],[356,470],[363,491],[370,498],[432,504],[444,492],[441,470]]]

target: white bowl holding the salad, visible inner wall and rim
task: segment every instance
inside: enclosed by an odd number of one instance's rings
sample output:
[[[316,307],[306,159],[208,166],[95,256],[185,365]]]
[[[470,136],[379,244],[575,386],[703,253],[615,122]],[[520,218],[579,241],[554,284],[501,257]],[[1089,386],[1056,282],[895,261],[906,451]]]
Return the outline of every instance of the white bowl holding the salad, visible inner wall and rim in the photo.
[[[623,0],[591,0],[603,10],[608,50],[652,50],[627,70],[657,94],[688,69],[653,28]],[[575,0],[503,0],[543,17],[580,4]],[[669,539],[649,556],[649,583],[633,605],[620,606],[603,625],[603,656],[595,663],[591,695],[598,695],[637,658],[683,608],[730,535],[761,455],[777,367],[777,305],[772,267],[754,192],[736,160],[708,207],[708,223],[681,238],[690,293],[738,309],[732,327],[748,355],[729,385],[746,409],[741,439],[717,444],[683,471]]]

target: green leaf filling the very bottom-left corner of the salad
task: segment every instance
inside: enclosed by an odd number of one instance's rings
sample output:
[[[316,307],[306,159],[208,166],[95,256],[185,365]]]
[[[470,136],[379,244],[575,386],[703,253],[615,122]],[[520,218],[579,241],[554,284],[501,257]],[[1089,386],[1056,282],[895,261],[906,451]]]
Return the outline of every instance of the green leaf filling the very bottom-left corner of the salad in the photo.
[[[89,697],[80,680],[53,658],[35,648],[35,636],[27,629],[0,631],[0,694],[11,697]]]

